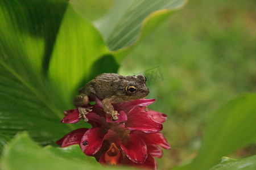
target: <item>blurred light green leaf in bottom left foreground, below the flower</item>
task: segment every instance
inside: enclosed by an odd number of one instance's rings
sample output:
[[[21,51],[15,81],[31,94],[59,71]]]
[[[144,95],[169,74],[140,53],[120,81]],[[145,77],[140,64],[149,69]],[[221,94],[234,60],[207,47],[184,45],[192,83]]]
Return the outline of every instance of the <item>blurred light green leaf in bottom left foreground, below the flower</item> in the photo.
[[[94,159],[87,159],[79,147],[64,149],[48,148],[44,150],[28,137],[27,133],[20,133],[9,143],[3,151],[0,168],[10,169],[102,169]],[[59,152],[65,152],[61,154]],[[72,158],[75,156],[80,160]],[[84,161],[82,161],[84,159]]]

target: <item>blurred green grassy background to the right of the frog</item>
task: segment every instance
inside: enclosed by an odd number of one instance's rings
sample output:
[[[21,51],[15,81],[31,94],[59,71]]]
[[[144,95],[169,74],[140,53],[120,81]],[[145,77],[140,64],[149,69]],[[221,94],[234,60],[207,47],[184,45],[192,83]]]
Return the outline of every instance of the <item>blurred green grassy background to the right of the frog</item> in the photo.
[[[150,108],[168,115],[163,133],[172,149],[158,159],[159,168],[194,158],[210,114],[255,92],[255,6],[253,0],[189,1],[123,60],[119,74],[162,71],[164,80],[151,79],[148,95],[156,99]],[[255,146],[240,153],[255,154]]]

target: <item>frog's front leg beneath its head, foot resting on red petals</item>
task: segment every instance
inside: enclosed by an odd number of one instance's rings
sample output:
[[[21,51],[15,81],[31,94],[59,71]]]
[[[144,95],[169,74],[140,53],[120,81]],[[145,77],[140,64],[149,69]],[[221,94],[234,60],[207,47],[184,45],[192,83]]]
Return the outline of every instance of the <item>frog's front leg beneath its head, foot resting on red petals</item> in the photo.
[[[118,120],[117,115],[119,114],[117,111],[115,111],[112,104],[114,103],[121,103],[120,100],[118,100],[117,97],[108,97],[102,100],[102,107],[104,109],[104,112],[112,116],[113,121]]]

